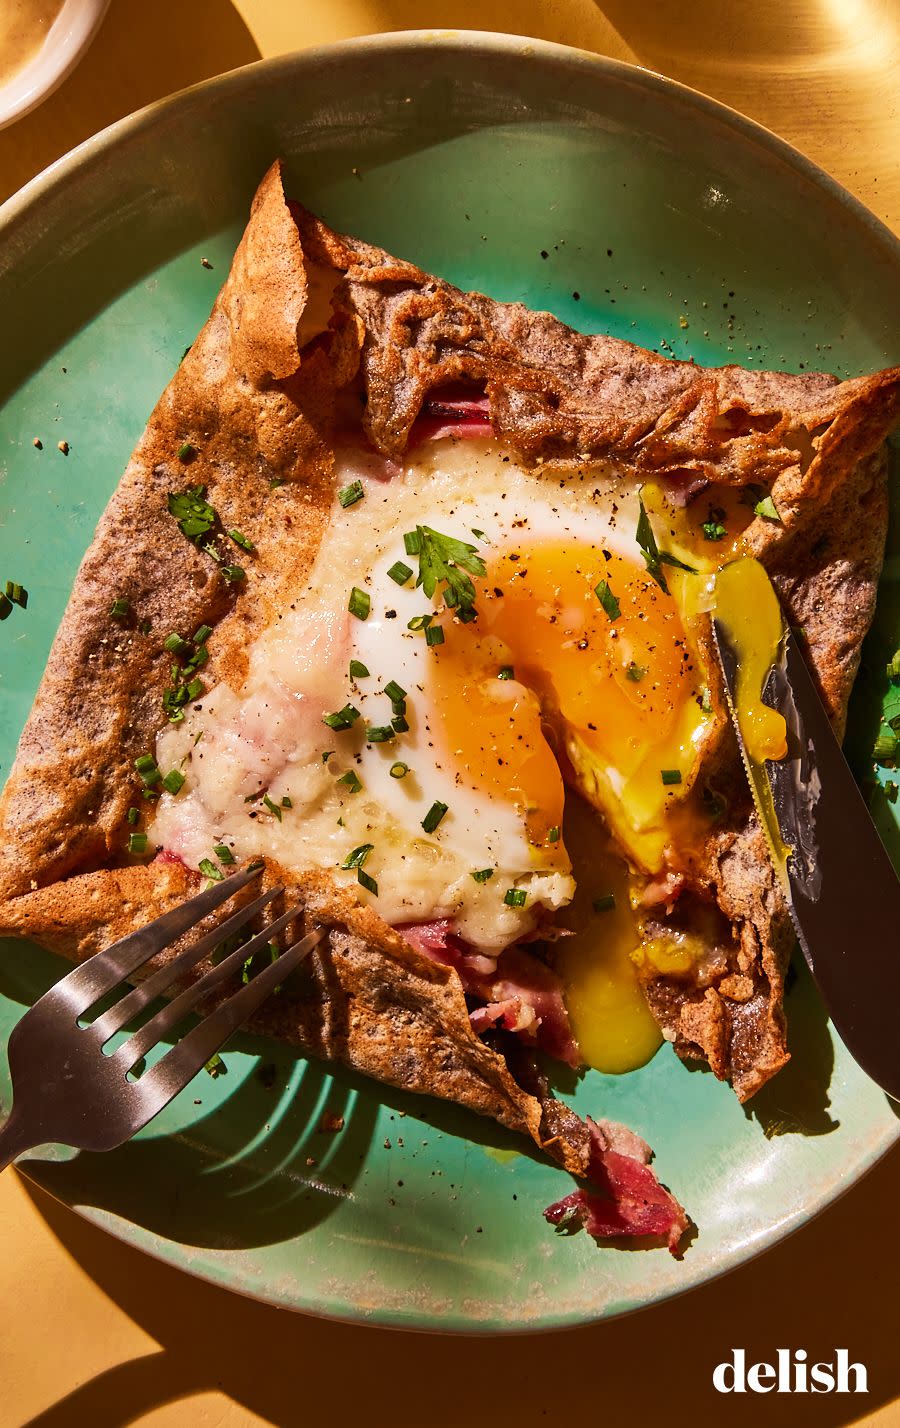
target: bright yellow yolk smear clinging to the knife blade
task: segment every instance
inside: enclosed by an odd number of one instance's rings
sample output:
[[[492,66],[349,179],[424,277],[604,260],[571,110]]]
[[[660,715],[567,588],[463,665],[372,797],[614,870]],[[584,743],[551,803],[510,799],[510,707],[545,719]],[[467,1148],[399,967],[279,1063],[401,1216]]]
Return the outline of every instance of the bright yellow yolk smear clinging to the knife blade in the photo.
[[[734,708],[747,757],[784,758],[787,725],[763,704],[763,685],[781,643],[781,607],[757,560],[736,560],[716,577],[716,618],[737,655]]]

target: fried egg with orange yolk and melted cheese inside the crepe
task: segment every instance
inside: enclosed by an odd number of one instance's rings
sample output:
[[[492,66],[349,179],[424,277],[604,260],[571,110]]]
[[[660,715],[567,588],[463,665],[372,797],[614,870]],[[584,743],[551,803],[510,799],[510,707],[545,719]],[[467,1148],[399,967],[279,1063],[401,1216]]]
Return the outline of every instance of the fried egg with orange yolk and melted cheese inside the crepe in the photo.
[[[451,917],[491,952],[573,897],[564,780],[659,871],[711,715],[683,575],[647,568],[640,514],[613,471],[529,471],[490,440],[427,443],[390,478],[349,448],[244,685],[161,733],[186,783],[151,838],[191,867],[224,847],[329,868],[393,925]],[[466,553],[474,618],[440,578],[426,595],[416,531],[463,543],[437,545]]]

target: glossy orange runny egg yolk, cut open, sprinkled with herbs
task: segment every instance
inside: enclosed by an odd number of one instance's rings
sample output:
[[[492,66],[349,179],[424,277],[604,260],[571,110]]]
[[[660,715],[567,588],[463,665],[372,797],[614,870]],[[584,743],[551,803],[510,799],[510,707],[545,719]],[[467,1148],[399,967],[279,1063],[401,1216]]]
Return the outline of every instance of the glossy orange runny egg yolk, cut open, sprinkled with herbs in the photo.
[[[646,570],[574,541],[501,547],[477,611],[434,647],[433,730],[457,778],[511,801],[553,861],[560,725],[623,780],[664,744],[691,693],[679,611]]]

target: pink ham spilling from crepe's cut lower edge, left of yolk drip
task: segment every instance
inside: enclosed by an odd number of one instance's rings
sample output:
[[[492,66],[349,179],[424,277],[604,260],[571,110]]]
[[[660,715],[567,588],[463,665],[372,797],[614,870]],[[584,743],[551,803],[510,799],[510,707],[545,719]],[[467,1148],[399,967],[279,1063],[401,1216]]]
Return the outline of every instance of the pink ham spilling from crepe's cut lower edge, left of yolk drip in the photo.
[[[477,1032],[501,1022],[557,1061],[583,1065],[569,1025],[563,984],[537,957],[521,947],[507,947],[497,958],[484,957],[454,932],[449,918],[411,922],[397,931],[423,957],[453,967],[466,995],[484,1004],[470,1014]]]

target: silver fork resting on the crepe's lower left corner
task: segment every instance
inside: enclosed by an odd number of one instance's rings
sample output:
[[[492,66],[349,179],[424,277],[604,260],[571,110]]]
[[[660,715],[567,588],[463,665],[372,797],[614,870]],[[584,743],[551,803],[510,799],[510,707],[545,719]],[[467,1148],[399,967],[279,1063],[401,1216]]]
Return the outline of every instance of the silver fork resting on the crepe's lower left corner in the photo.
[[[283,892],[273,888],[241,907],[230,918],[179,952],[167,965],[151,972],[126,992],[96,1021],[80,1027],[79,1018],[100,998],[127,981],[144,962],[213,912],[233,892],[246,887],[261,865],[244,868],[197,892],[180,907],[139,928],[103,952],[90,957],[44,992],[13,1028],[9,1061],[13,1077],[13,1110],[0,1130],[0,1170],[23,1151],[57,1142],[86,1151],[111,1151],[183,1091],[187,1082],[243,1025],[284,978],[324,937],[316,928],[293,942],[227,1001],[209,1012],[176,1045],[139,1078],[129,1080],[137,1062],[194,1011],[201,998],[240,971],[241,964],[263,951],[289,922],[294,907],[269,922],[250,941],[173,997],[161,1011],[134,1031],[111,1055],[103,1052],[110,1037],[129,1024],[156,997],[196,967],[224,938],[240,932],[267,902]]]

